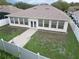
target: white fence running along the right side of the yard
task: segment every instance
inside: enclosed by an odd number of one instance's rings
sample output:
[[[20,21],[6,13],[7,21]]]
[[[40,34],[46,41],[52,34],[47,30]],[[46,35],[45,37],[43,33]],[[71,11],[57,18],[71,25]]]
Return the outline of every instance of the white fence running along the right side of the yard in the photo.
[[[69,20],[69,24],[70,24],[78,42],[79,42],[79,28],[77,27],[77,25],[71,19]]]

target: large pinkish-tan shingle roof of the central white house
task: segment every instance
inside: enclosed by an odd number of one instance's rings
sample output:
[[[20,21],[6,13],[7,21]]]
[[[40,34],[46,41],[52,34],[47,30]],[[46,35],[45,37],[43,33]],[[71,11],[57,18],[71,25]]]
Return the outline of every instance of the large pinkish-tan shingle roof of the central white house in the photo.
[[[69,17],[64,12],[50,5],[38,5],[22,12],[9,14],[8,16],[64,21],[69,19]]]

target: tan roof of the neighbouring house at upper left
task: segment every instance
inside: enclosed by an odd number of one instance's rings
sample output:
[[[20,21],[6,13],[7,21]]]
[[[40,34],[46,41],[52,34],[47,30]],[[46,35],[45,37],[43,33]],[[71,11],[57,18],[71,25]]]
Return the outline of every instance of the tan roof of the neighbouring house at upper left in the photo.
[[[16,13],[18,11],[22,11],[22,9],[19,9],[11,5],[0,5],[0,12]]]

